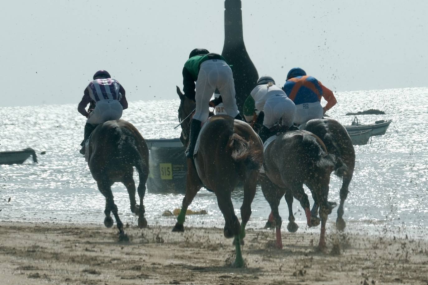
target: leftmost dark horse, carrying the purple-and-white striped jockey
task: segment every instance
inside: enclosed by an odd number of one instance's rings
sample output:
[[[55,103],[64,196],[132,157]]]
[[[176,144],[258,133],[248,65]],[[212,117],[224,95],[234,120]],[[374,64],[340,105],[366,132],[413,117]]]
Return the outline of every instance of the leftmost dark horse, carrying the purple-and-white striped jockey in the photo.
[[[119,229],[119,240],[126,241],[128,237],[123,230],[123,224],[117,214],[113,200],[111,185],[122,182],[128,189],[131,202],[131,212],[138,214],[140,228],[147,226],[144,217],[143,198],[146,194],[146,180],[149,175],[149,148],[140,132],[127,121],[110,120],[98,125],[92,132],[89,141],[89,170],[98,184],[101,194],[106,197],[104,225],[113,226],[110,212],[116,219]],[[135,167],[140,177],[138,195],[140,206],[135,200],[135,182],[132,177]]]

